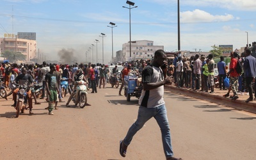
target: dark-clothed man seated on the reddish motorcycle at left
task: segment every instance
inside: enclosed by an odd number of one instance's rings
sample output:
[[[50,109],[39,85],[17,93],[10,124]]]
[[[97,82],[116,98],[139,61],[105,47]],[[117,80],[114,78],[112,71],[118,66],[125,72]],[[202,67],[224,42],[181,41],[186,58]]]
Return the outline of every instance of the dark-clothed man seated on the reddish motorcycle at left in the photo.
[[[17,76],[14,79],[15,83],[19,84],[19,85],[23,85],[23,86],[28,86],[27,88],[27,99],[28,99],[28,107],[29,107],[29,115],[34,114],[32,112],[32,108],[33,108],[33,103],[32,103],[32,97],[31,97],[31,90],[30,90],[30,86],[34,83],[34,79],[30,74],[27,74],[27,70],[26,68],[22,68],[21,69],[21,74],[19,74],[19,76]],[[17,93],[19,92],[19,88],[17,88],[16,90],[13,91],[13,101],[14,104],[12,105],[13,107],[16,108],[16,104],[17,104]]]

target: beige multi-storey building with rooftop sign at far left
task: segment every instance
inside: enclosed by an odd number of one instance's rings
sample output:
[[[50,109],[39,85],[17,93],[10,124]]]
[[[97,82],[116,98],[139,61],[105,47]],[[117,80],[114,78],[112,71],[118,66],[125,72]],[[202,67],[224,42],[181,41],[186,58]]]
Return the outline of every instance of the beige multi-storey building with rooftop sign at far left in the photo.
[[[4,38],[0,38],[0,43],[0,52],[6,50],[21,52],[26,56],[26,61],[36,58],[35,33],[18,33],[18,35],[5,33]]]

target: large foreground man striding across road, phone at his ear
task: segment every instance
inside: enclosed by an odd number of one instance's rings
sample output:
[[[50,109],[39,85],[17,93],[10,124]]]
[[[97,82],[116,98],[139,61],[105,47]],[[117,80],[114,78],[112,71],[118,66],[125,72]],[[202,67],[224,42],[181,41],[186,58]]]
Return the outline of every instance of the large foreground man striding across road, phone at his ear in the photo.
[[[160,68],[166,61],[166,54],[163,50],[157,50],[154,60],[147,65],[142,72],[143,91],[139,100],[140,108],[138,118],[130,127],[124,140],[120,141],[120,155],[126,156],[127,147],[131,143],[133,136],[152,117],[156,118],[157,124],[161,128],[162,142],[166,159],[177,159],[173,157],[170,126],[166,115],[166,108],[163,99],[164,84],[170,84],[170,77]]]

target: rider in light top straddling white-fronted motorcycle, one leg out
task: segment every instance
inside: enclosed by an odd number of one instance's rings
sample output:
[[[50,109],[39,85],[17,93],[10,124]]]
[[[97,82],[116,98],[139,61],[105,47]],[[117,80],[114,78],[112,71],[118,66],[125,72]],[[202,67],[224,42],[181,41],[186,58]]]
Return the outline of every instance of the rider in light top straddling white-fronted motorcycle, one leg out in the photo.
[[[74,81],[77,81],[77,83],[74,84],[74,88],[76,88],[78,84],[82,84],[83,81],[86,82],[86,79],[83,74],[83,70],[81,68],[78,68],[76,70],[76,73],[74,74]],[[72,91],[71,95],[69,96],[66,107],[70,107],[68,104],[70,100],[74,97],[75,95],[74,92],[75,92],[75,89]],[[86,103],[86,106],[91,106],[91,104]]]

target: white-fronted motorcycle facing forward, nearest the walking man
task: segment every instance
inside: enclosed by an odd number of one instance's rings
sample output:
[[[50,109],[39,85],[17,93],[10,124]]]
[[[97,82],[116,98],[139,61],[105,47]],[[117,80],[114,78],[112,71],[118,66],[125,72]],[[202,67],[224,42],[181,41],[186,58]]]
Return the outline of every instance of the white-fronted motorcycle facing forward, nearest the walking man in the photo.
[[[86,83],[84,81],[75,81],[77,86],[74,88],[74,96],[72,97],[72,101],[75,106],[79,104],[80,108],[84,108],[87,104],[87,88]]]

